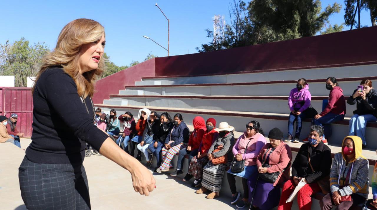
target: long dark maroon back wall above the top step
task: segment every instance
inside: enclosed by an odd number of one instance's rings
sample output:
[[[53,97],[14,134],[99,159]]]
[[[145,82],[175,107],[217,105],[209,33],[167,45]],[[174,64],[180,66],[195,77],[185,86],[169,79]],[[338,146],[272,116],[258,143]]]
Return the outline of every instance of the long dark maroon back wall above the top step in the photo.
[[[367,27],[228,50],[158,57],[156,76],[362,65],[377,61],[376,36],[377,27]]]

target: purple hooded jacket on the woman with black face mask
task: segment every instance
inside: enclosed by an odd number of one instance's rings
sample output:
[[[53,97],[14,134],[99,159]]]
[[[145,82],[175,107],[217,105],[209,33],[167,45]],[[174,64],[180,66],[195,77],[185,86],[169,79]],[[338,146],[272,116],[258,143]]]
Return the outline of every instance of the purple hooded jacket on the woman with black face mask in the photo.
[[[288,97],[289,109],[299,109],[299,112],[303,112],[310,107],[311,94],[309,92],[309,84],[305,85],[300,91],[297,88],[293,88]]]

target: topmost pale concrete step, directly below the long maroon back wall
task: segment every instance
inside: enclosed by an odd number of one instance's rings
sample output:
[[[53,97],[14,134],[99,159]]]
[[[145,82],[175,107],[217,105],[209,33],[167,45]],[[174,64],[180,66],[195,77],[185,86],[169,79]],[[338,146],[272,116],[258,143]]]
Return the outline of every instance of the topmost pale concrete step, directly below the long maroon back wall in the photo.
[[[161,82],[161,85],[183,85],[201,83],[238,83],[238,82],[264,82],[278,80],[323,79],[330,76],[336,78],[371,77],[377,76],[377,65],[342,66],[330,68],[299,69],[286,71],[266,71],[259,73],[225,74],[212,76],[192,77],[155,77],[144,78],[143,82],[135,85],[149,85],[151,81]],[[155,85],[155,84],[150,84]]]

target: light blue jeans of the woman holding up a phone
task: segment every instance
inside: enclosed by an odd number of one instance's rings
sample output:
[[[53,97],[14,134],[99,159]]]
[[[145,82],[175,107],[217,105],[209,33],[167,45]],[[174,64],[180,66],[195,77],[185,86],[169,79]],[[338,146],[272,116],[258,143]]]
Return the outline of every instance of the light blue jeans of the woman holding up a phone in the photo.
[[[363,144],[366,144],[365,131],[366,124],[368,122],[375,122],[377,118],[374,115],[357,115],[351,117],[349,120],[349,136],[359,136],[363,140]]]

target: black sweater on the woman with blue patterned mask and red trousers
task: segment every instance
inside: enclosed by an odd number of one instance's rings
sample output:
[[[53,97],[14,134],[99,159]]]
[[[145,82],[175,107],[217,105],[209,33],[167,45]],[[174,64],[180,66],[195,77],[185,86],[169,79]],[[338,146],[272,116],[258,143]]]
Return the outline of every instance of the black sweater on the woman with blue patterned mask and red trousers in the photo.
[[[311,170],[309,159],[314,171]],[[309,143],[301,145],[296,159],[292,165],[292,177],[305,177],[308,184],[319,181],[330,174],[331,170],[331,150],[321,141],[317,147],[313,148]]]

